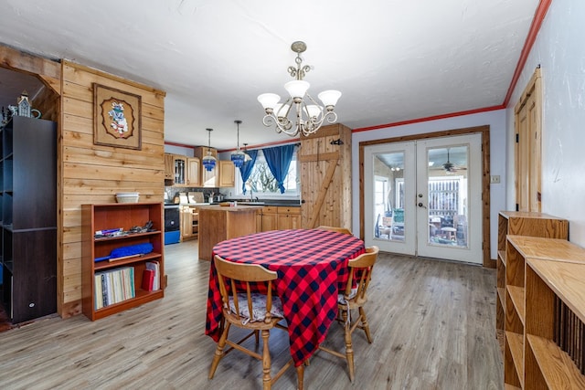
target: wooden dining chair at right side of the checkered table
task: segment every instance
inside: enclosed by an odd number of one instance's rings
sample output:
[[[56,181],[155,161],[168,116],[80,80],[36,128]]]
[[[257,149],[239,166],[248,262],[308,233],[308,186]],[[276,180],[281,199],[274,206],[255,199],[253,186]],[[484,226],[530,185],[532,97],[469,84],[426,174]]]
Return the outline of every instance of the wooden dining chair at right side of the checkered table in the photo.
[[[341,353],[331,348],[319,346],[319,349],[331,353],[337,357],[345,359],[349,380],[354,382],[354,348],[351,335],[359,328],[366,333],[367,343],[372,343],[372,336],[369,332],[369,323],[367,322],[364,305],[367,302],[367,286],[372,279],[374,264],[378,259],[379,248],[374,246],[366,248],[366,253],[357,258],[349,260],[349,277],[347,279],[346,290],[338,295],[337,309],[339,321],[344,326],[344,339],[346,342],[346,351]],[[357,317],[354,318],[352,311],[357,309]]]

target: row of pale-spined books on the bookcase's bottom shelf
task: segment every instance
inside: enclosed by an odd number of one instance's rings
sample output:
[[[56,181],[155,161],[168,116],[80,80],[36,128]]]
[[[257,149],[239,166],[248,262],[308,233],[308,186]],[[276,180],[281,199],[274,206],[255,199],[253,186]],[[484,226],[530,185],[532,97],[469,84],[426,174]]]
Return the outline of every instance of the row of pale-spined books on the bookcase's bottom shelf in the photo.
[[[136,296],[133,267],[96,272],[94,277],[96,310]]]

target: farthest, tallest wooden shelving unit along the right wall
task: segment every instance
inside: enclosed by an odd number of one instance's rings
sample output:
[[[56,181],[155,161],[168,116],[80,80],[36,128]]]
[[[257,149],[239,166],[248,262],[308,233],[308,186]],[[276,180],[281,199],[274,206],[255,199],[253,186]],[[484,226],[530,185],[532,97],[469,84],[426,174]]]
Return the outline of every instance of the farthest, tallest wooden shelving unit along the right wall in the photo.
[[[497,237],[497,278],[495,300],[495,329],[498,338],[504,340],[505,328],[505,244],[506,237],[548,237],[569,238],[569,221],[556,216],[548,216],[542,213],[527,213],[518,211],[501,211],[498,215]]]

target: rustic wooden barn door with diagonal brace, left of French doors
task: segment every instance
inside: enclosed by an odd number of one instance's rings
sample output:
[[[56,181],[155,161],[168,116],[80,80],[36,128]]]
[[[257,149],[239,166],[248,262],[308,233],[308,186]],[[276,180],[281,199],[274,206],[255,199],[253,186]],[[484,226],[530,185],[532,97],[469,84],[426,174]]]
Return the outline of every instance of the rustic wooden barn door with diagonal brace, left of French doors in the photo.
[[[351,129],[334,124],[302,136],[299,161],[303,228],[351,229]]]

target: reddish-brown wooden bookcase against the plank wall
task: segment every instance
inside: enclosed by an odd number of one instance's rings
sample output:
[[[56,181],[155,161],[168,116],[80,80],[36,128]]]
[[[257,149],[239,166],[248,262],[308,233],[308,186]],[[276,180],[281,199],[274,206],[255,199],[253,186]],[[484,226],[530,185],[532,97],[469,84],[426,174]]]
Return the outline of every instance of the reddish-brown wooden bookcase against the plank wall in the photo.
[[[125,311],[144,304],[151,300],[164,297],[165,288],[165,256],[163,244],[163,204],[161,203],[116,203],[107,205],[81,206],[81,235],[82,235],[82,304],[83,313],[91,320]],[[130,233],[120,237],[95,237],[98,230],[122,227],[124,231],[132,227],[144,227],[152,221],[152,228],[144,233]],[[150,243],[153,246],[151,253],[133,258],[124,258],[115,261],[103,260],[96,262],[95,258],[110,255],[112,249],[131,247]],[[159,290],[143,290],[143,273],[147,262],[156,261],[159,264]],[[133,286],[135,296],[131,299],[96,309],[96,272],[122,267],[133,268]]]

